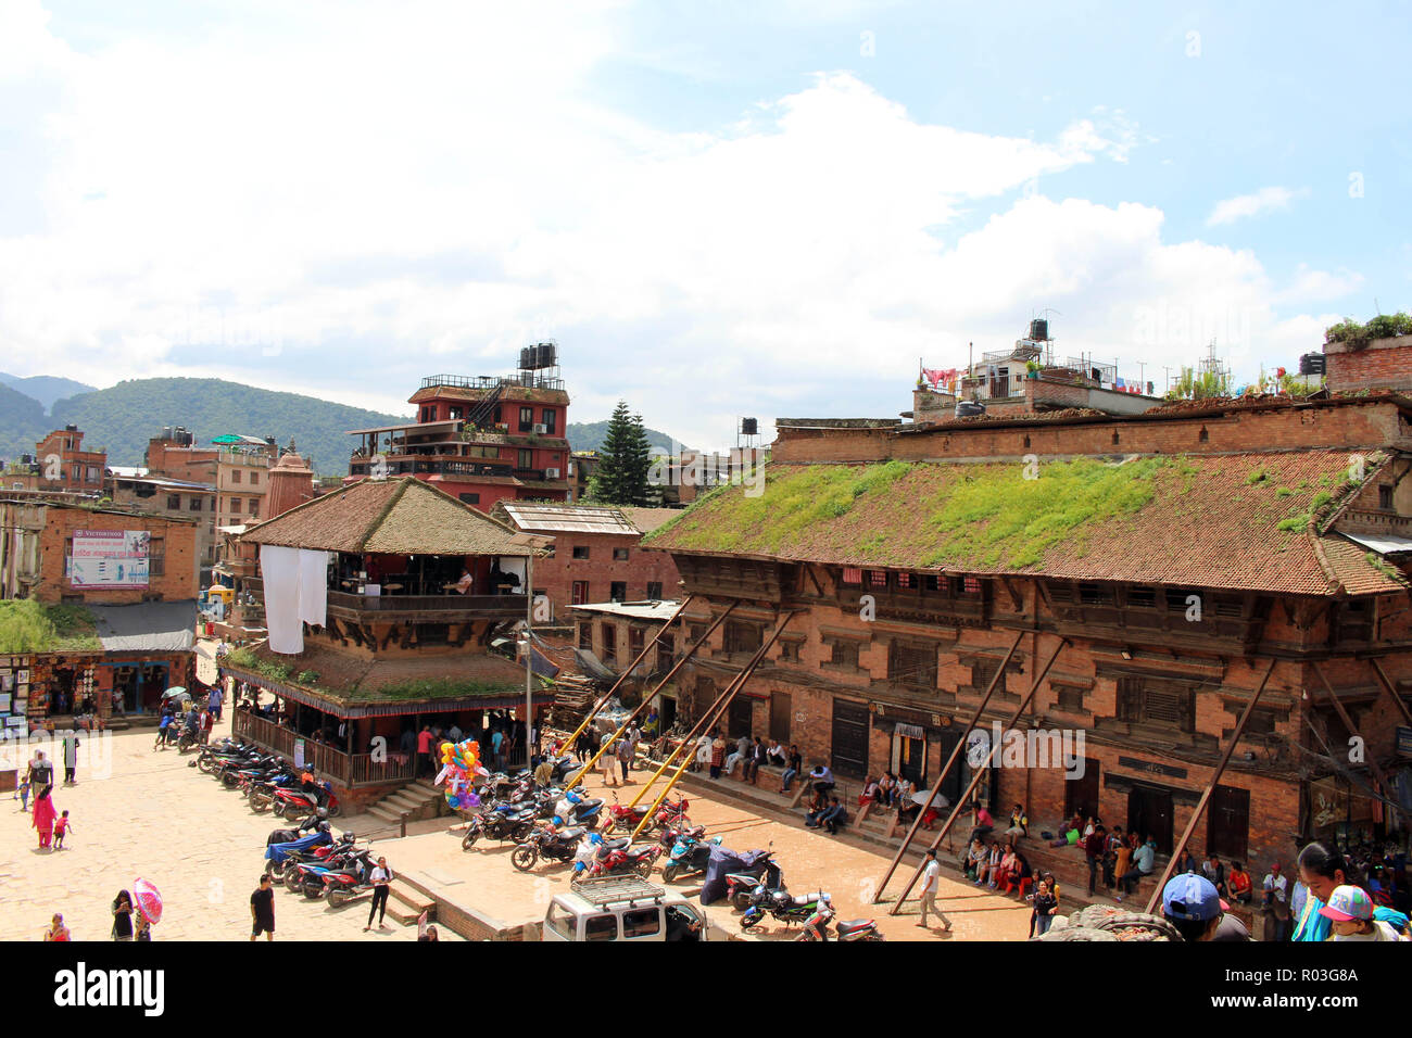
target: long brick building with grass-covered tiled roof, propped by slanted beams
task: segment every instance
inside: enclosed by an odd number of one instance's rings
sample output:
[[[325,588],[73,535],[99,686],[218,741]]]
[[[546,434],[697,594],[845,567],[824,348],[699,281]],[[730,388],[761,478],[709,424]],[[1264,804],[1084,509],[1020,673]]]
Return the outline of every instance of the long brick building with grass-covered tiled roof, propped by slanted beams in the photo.
[[[1084,740],[1073,774],[983,777],[997,816],[1097,813],[1166,852],[1258,691],[1192,849],[1264,870],[1300,839],[1405,842],[1406,815],[1361,791],[1412,780],[1409,421],[1388,393],[778,419],[762,497],[731,487],[644,539],[700,596],[683,638],[737,603],[676,708],[696,716],[788,619],[730,734],[923,784],[995,679],[983,729],[1034,691],[1017,729]],[[1372,765],[1340,757],[1346,715]],[[963,754],[943,794],[970,778]]]

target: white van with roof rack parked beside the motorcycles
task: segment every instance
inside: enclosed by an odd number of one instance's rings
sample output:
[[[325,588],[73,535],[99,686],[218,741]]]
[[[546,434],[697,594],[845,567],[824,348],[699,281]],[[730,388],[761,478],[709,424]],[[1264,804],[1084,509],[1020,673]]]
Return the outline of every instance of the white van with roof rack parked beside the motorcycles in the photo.
[[[707,941],[700,905],[637,876],[569,884],[544,917],[544,941]]]

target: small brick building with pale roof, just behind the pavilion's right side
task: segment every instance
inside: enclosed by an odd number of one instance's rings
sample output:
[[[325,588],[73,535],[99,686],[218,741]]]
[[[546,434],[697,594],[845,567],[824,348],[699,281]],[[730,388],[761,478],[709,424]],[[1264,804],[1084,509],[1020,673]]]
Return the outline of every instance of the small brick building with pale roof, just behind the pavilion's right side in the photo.
[[[549,599],[555,617],[589,602],[676,596],[681,578],[671,556],[638,547],[642,534],[681,514],[672,508],[500,501],[490,514],[520,532],[554,538],[534,578],[535,595]]]

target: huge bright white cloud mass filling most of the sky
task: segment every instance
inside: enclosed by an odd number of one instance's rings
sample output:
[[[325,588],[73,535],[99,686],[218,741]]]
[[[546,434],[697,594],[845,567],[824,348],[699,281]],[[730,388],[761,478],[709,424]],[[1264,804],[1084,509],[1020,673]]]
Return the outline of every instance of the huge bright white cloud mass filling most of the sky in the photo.
[[[572,418],[626,397],[720,446],[743,414],[902,410],[918,356],[964,363],[1043,306],[1060,350],[1149,378],[1211,335],[1250,363],[1303,335],[1251,253],[1060,198],[1151,140],[1118,110],[1000,137],[822,73],[668,133],[594,99],[611,7],[328,0],[82,54],[21,10],[20,49],[62,90],[44,226],[0,237],[20,374],[219,374],[407,412],[422,376],[504,373],[554,336]],[[4,89],[0,116],[32,103]],[[1049,196],[947,234],[1036,178]]]

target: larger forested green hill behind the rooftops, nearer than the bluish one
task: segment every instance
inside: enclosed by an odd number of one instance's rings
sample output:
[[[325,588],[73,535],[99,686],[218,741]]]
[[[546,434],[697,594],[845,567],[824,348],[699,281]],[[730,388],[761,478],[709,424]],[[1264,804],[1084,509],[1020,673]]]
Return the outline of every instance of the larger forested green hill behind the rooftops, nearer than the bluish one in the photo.
[[[109,465],[141,465],[147,441],[164,425],[185,425],[198,443],[213,436],[244,434],[274,436],[280,445],[292,436],[299,453],[311,458],[321,476],[346,476],[356,446],[349,429],[404,422],[407,415],[378,414],[360,407],[330,404],[297,393],[257,390],[220,378],[134,378],[107,390],[61,400],[49,428],[78,425],[83,445],[107,449]],[[30,438],[28,451],[34,449]]]

